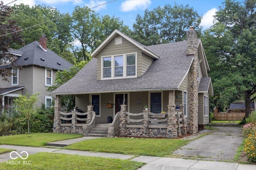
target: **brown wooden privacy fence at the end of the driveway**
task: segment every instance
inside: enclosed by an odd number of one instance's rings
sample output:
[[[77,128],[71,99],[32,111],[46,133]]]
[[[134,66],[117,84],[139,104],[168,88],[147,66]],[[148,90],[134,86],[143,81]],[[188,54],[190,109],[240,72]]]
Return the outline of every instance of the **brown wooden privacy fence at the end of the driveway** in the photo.
[[[214,113],[215,120],[230,120],[230,121],[240,121],[245,116],[245,113],[227,113],[220,112]]]

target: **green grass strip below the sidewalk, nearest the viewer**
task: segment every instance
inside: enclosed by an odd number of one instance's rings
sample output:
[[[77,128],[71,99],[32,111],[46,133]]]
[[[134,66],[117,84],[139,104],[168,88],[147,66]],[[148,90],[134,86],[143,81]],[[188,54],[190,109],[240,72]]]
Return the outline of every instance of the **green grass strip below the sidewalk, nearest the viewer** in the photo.
[[[91,156],[79,156],[60,153],[40,152],[29,155],[25,160],[30,164],[0,164],[4,170],[136,170],[145,163],[114,158],[100,158]],[[30,162],[29,162],[30,161]]]

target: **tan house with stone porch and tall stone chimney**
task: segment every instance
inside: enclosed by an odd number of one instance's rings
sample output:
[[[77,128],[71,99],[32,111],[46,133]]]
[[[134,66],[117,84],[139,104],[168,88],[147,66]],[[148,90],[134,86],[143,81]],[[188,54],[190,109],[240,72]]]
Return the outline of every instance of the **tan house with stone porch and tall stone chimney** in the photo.
[[[82,70],[52,92],[57,101],[54,132],[88,135],[94,126],[86,130],[91,119],[107,123],[111,116],[114,121],[108,127],[109,136],[176,137],[177,131],[180,135],[179,131],[185,130],[197,133],[209,123],[213,90],[202,42],[193,27],[190,29],[186,41],[152,46],[115,30]],[[78,126],[76,118],[70,123],[71,118],[60,112],[62,94],[75,95],[76,107],[87,111],[88,116],[92,114],[88,125]],[[163,120],[158,119],[160,115]],[[65,123],[67,120],[70,122]]]

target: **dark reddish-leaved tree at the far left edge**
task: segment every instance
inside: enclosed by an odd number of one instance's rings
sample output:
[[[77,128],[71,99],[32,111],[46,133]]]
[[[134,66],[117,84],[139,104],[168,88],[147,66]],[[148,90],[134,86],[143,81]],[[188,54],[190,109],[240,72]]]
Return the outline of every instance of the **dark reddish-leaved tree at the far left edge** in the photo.
[[[8,19],[12,14],[12,9],[0,2],[0,65],[12,64],[15,66],[15,56],[8,53],[11,45],[22,45],[22,36],[20,28],[15,20]],[[12,72],[8,68],[0,68],[0,76],[7,80]],[[1,87],[0,87],[1,88]]]

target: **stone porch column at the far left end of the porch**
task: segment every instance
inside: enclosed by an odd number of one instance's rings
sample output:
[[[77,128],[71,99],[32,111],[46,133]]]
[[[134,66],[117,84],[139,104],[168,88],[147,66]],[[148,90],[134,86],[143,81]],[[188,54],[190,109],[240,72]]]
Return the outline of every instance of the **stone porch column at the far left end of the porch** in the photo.
[[[53,133],[60,133],[60,95],[56,95],[54,104]]]

